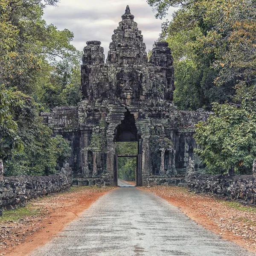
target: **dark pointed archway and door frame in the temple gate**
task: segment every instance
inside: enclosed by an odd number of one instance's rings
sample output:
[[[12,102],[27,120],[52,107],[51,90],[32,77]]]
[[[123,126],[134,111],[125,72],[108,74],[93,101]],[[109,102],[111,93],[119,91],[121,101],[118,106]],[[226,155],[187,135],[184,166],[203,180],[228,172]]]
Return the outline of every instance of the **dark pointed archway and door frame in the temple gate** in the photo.
[[[137,154],[118,154],[114,151],[113,157],[113,171],[114,171],[114,186],[118,186],[118,158],[119,157],[136,157],[137,168],[136,168],[136,184],[142,186],[142,139],[138,134],[137,127],[135,124],[134,115],[128,110],[125,112],[125,118],[121,121],[114,132],[114,143],[116,142],[137,142]]]

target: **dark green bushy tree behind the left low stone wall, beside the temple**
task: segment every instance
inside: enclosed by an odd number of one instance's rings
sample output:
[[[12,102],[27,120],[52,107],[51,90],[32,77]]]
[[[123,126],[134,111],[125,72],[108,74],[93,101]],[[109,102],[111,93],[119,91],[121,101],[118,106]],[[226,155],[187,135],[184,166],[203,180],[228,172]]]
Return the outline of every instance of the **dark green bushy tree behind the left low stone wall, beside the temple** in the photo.
[[[34,99],[19,91],[13,108],[17,134],[24,145],[22,152],[15,151],[6,158],[5,174],[49,175],[58,170],[58,163],[70,156],[69,143],[61,136],[52,138],[52,131],[42,122]]]

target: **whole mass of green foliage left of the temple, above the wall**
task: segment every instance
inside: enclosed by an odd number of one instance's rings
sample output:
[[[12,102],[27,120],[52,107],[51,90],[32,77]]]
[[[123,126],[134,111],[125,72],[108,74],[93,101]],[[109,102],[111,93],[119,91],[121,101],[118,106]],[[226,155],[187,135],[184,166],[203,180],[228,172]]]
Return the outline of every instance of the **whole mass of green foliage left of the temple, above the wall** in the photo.
[[[48,175],[70,156],[69,143],[41,111],[80,100],[81,53],[73,33],[42,19],[58,0],[0,0],[0,159],[5,175]]]

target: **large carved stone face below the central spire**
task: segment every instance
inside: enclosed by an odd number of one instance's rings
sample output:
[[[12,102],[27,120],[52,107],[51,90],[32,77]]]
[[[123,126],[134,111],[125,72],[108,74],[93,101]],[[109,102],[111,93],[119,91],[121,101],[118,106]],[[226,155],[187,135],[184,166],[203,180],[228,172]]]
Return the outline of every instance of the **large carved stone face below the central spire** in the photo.
[[[116,74],[116,96],[121,99],[136,99],[140,95],[141,81],[136,70],[121,70]]]

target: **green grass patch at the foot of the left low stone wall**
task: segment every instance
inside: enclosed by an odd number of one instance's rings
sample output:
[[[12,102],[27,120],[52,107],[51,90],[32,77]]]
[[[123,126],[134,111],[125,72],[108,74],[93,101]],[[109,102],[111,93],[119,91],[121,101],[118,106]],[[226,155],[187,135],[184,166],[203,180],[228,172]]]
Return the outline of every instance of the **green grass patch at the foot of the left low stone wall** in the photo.
[[[3,221],[18,221],[19,219],[41,215],[42,212],[37,207],[32,206],[31,204],[26,205],[26,207],[19,207],[12,211],[4,211],[3,216],[0,217],[0,222]]]

